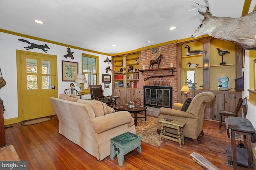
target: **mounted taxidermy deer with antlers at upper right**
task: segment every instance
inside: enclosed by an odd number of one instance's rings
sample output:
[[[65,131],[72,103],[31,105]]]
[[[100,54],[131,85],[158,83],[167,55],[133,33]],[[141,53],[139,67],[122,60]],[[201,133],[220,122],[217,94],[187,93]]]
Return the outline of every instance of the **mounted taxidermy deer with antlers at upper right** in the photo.
[[[191,0],[192,2],[195,2]],[[217,39],[232,41],[241,45],[243,49],[256,50],[256,11],[240,18],[215,17],[209,12],[208,1],[206,5],[198,4],[198,8],[206,8],[206,12],[199,12],[204,20],[191,35],[193,38],[208,34]],[[189,11],[192,11],[189,10]]]

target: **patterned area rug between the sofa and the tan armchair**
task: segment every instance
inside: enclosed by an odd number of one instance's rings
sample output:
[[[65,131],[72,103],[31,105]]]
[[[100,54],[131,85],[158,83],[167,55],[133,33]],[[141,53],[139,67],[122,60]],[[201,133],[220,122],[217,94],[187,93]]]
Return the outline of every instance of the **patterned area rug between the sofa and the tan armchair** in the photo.
[[[138,117],[144,116],[137,114]],[[168,140],[162,139],[159,141],[159,135],[156,130],[156,117],[147,116],[147,121],[144,118],[137,119],[136,135],[141,137],[141,141],[156,148],[162,147]]]

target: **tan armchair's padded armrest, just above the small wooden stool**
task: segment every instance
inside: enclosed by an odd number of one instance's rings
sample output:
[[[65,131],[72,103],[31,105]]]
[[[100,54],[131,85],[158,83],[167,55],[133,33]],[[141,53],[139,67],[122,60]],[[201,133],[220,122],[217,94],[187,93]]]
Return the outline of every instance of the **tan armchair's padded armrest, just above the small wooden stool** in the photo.
[[[165,107],[160,108],[160,114],[196,119],[195,115],[188,113],[187,111],[181,111],[181,110],[170,109]]]

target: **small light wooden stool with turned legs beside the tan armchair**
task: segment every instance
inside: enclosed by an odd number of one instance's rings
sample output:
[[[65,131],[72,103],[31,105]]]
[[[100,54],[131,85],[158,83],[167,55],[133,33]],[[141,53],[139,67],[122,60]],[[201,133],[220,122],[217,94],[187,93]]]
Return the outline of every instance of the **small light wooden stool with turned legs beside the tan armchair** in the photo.
[[[160,141],[162,138],[169,139],[171,141],[178,142],[180,144],[180,148],[182,148],[181,144],[184,144],[184,136],[183,136],[183,127],[186,123],[180,121],[166,121],[164,119],[158,120],[161,123],[161,132],[160,132]],[[166,132],[166,127],[170,127],[172,129],[177,129],[178,135],[174,135],[172,133]],[[167,136],[168,135],[168,136]]]

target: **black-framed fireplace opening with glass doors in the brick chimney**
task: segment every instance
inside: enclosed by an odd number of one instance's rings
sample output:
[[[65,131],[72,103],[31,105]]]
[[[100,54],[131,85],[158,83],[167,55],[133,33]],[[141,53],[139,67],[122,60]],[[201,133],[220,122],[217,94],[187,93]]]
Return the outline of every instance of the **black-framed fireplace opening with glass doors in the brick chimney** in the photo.
[[[144,106],[172,108],[172,86],[144,86]]]

